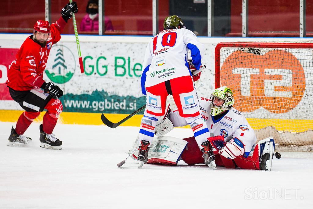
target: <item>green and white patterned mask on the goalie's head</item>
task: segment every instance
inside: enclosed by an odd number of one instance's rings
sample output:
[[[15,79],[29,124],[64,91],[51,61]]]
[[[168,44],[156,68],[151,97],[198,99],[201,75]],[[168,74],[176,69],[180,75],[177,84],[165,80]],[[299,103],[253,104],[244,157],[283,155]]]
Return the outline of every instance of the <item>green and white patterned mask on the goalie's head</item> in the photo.
[[[230,110],[234,104],[233,92],[230,88],[222,86],[217,88],[211,94],[211,113],[210,115],[215,116],[225,110]]]

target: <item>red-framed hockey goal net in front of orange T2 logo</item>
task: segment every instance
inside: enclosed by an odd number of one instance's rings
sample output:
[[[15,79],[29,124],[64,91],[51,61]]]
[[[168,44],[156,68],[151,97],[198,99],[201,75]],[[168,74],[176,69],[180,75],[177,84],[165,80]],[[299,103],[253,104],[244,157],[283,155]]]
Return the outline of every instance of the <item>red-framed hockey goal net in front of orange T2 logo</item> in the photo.
[[[313,150],[313,43],[222,42],[215,88],[228,86],[258,140],[280,150]]]

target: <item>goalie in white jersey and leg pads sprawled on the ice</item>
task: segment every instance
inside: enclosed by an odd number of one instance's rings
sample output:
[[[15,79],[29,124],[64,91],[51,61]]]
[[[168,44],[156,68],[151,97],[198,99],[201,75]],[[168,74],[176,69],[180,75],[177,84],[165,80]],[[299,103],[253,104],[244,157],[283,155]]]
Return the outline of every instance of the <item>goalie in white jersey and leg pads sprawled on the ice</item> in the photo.
[[[245,116],[232,107],[233,104],[233,93],[225,86],[215,89],[211,99],[200,98],[202,118],[211,136],[202,143],[202,150],[199,149],[195,137],[178,139],[163,136],[173,127],[190,125],[194,132],[201,129],[201,124],[188,124],[177,110],[171,111],[168,106],[166,114],[158,120],[154,129],[157,137],[151,143],[146,163],[177,165],[178,160],[183,160],[188,165],[205,163],[211,168],[223,166],[270,170],[275,148],[273,138],[256,143],[254,130]],[[139,142],[136,140],[133,150],[138,146]],[[204,159],[203,153],[208,153],[210,159]],[[138,151],[133,157],[137,159],[137,155]]]

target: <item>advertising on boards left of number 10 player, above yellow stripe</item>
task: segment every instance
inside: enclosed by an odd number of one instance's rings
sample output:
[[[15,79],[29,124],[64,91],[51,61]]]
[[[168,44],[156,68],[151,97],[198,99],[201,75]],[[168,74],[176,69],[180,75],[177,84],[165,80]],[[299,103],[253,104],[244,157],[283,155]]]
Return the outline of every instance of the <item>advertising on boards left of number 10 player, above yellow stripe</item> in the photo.
[[[12,43],[13,42],[13,43]],[[18,46],[21,40],[12,40]],[[5,48],[0,43],[0,109],[22,110],[8,92],[8,68],[18,47]],[[140,77],[146,43],[84,43],[85,73],[79,71],[77,49],[73,42],[53,45],[44,71],[44,80],[63,90],[60,98],[64,112],[130,114],[145,104]]]

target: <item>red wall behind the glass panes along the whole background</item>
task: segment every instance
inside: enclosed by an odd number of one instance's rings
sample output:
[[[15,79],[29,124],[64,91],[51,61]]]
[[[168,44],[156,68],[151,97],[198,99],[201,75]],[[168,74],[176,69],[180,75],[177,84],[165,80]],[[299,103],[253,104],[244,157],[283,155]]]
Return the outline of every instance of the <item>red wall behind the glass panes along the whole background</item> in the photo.
[[[79,13],[76,14],[79,30],[88,0],[76,2],[79,8]],[[231,33],[239,35],[242,27],[241,2],[231,0]],[[53,22],[60,17],[60,11],[66,3],[67,0],[51,0]],[[159,30],[161,30],[164,17],[169,15],[169,0],[159,0],[159,8]],[[120,31],[120,34],[128,32],[135,35],[137,31],[141,31],[141,34],[152,34],[151,0],[105,0],[105,15],[111,19],[115,31]],[[0,1],[0,19],[0,32],[31,33],[35,21],[44,19],[44,1]],[[306,31],[313,32],[312,22],[313,0],[306,0]],[[299,1],[249,1],[249,32],[262,31],[299,31]],[[66,25],[64,34],[74,34],[72,20]]]

